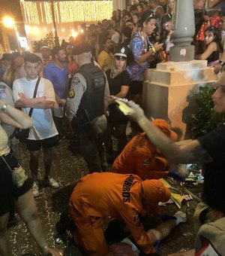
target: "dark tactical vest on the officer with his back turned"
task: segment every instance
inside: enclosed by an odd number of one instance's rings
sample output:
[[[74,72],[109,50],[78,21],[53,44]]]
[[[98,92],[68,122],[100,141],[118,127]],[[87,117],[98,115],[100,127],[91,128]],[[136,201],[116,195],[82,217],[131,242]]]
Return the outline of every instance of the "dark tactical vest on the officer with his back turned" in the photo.
[[[104,72],[101,71],[94,63],[88,63],[80,67],[81,75],[86,78],[87,89],[83,94],[77,111],[77,117],[84,111],[89,115],[89,120],[104,114],[104,91],[106,78]]]

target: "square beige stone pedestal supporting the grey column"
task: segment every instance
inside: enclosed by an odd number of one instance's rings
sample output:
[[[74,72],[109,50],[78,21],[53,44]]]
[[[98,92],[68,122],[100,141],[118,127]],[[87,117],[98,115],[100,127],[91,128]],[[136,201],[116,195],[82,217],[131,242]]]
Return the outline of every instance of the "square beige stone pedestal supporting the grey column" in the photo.
[[[170,120],[178,127],[181,139],[190,139],[187,117],[193,111],[193,93],[199,86],[211,85],[217,80],[214,69],[206,60],[158,63],[157,69],[145,71],[142,108],[148,118]]]

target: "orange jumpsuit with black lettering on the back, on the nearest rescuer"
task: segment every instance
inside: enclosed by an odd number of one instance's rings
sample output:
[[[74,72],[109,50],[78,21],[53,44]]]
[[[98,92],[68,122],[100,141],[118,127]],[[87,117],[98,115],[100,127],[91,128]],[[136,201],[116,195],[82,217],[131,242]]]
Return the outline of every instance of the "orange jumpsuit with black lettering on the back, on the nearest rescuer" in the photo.
[[[146,215],[142,208],[141,182],[136,175],[112,172],[95,172],[80,179],[71,195],[69,212],[77,225],[74,240],[89,255],[107,254],[102,226],[110,218],[124,221],[133,239],[145,253],[155,252],[139,222],[139,214]],[[156,201],[150,207],[157,210]]]

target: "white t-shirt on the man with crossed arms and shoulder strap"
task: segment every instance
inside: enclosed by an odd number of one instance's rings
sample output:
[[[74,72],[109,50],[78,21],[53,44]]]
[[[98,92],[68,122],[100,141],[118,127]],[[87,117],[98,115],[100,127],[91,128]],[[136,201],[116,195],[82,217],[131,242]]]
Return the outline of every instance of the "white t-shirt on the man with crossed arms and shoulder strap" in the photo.
[[[13,83],[14,102],[17,102],[17,100],[20,99],[19,93],[23,93],[26,98],[33,98],[36,83],[37,78],[31,81],[28,81],[26,78],[15,80]],[[36,98],[42,96],[45,96],[46,100],[55,102],[53,85],[45,78],[40,78],[40,83],[37,87]],[[30,108],[22,108],[22,110],[28,114]],[[34,126],[30,129],[28,139],[40,140],[58,135],[50,108],[34,108],[31,114],[31,119],[34,121]]]

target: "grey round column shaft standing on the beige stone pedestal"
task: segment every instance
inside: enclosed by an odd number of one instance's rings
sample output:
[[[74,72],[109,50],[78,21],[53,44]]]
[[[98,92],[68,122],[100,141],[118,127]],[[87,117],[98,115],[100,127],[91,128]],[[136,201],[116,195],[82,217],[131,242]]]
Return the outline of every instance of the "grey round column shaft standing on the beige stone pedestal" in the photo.
[[[173,32],[172,43],[174,47],[169,50],[171,61],[193,60],[193,41],[195,32],[193,0],[176,0],[172,15]]]

